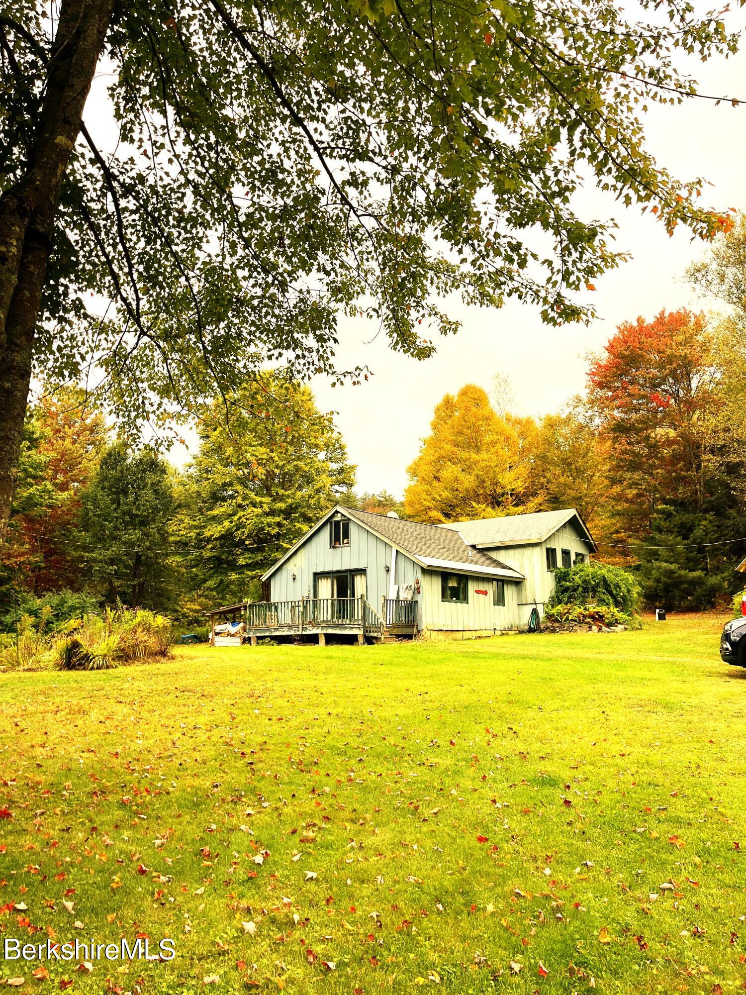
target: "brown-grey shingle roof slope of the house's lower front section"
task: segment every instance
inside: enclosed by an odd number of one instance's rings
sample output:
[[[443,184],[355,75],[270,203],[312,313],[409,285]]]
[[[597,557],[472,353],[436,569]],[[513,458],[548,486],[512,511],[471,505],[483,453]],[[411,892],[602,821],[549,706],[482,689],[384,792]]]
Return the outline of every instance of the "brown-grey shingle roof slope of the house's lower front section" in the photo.
[[[508,570],[515,575],[516,580],[522,577],[514,567],[501,563],[479,549],[471,549],[458,531],[453,529],[427,525],[421,521],[408,521],[406,518],[390,518],[386,514],[359,511],[354,507],[342,507],[341,510],[419,560],[446,561],[455,566],[478,567],[480,570]]]

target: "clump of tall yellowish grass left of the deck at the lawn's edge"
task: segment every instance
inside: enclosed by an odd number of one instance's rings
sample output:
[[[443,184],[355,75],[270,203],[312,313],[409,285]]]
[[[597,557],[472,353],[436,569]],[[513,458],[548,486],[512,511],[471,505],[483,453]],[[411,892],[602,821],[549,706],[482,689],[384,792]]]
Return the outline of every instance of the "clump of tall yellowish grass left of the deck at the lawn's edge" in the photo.
[[[0,669],[109,670],[166,657],[173,641],[170,619],[145,609],[107,609],[102,617],[72,619],[63,632],[49,635],[24,616],[17,640],[6,636],[0,645]]]

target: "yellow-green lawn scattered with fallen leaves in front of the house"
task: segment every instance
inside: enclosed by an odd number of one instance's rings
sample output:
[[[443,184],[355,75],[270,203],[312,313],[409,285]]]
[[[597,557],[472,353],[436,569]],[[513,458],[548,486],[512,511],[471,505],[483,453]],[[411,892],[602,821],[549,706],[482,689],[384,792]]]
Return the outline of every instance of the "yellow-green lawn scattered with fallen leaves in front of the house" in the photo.
[[[746,987],[746,673],[721,624],[2,675],[0,929],[177,950],[2,978]]]

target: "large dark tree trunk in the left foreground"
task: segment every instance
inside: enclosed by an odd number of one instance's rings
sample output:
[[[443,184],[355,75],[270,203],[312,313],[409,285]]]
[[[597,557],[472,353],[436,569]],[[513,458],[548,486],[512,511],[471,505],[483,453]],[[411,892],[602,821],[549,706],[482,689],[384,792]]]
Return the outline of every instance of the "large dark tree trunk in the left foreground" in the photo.
[[[0,197],[0,543],[10,517],[60,189],[113,0],[63,0],[23,177]]]

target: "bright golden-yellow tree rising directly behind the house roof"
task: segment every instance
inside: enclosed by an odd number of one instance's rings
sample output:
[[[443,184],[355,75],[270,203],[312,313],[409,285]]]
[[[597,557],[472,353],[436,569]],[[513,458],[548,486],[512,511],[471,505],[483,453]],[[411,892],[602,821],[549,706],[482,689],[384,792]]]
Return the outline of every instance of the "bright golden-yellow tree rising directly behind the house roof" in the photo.
[[[481,387],[466,384],[438,404],[431,430],[407,471],[408,517],[437,524],[536,510],[532,419],[500,417]]]

